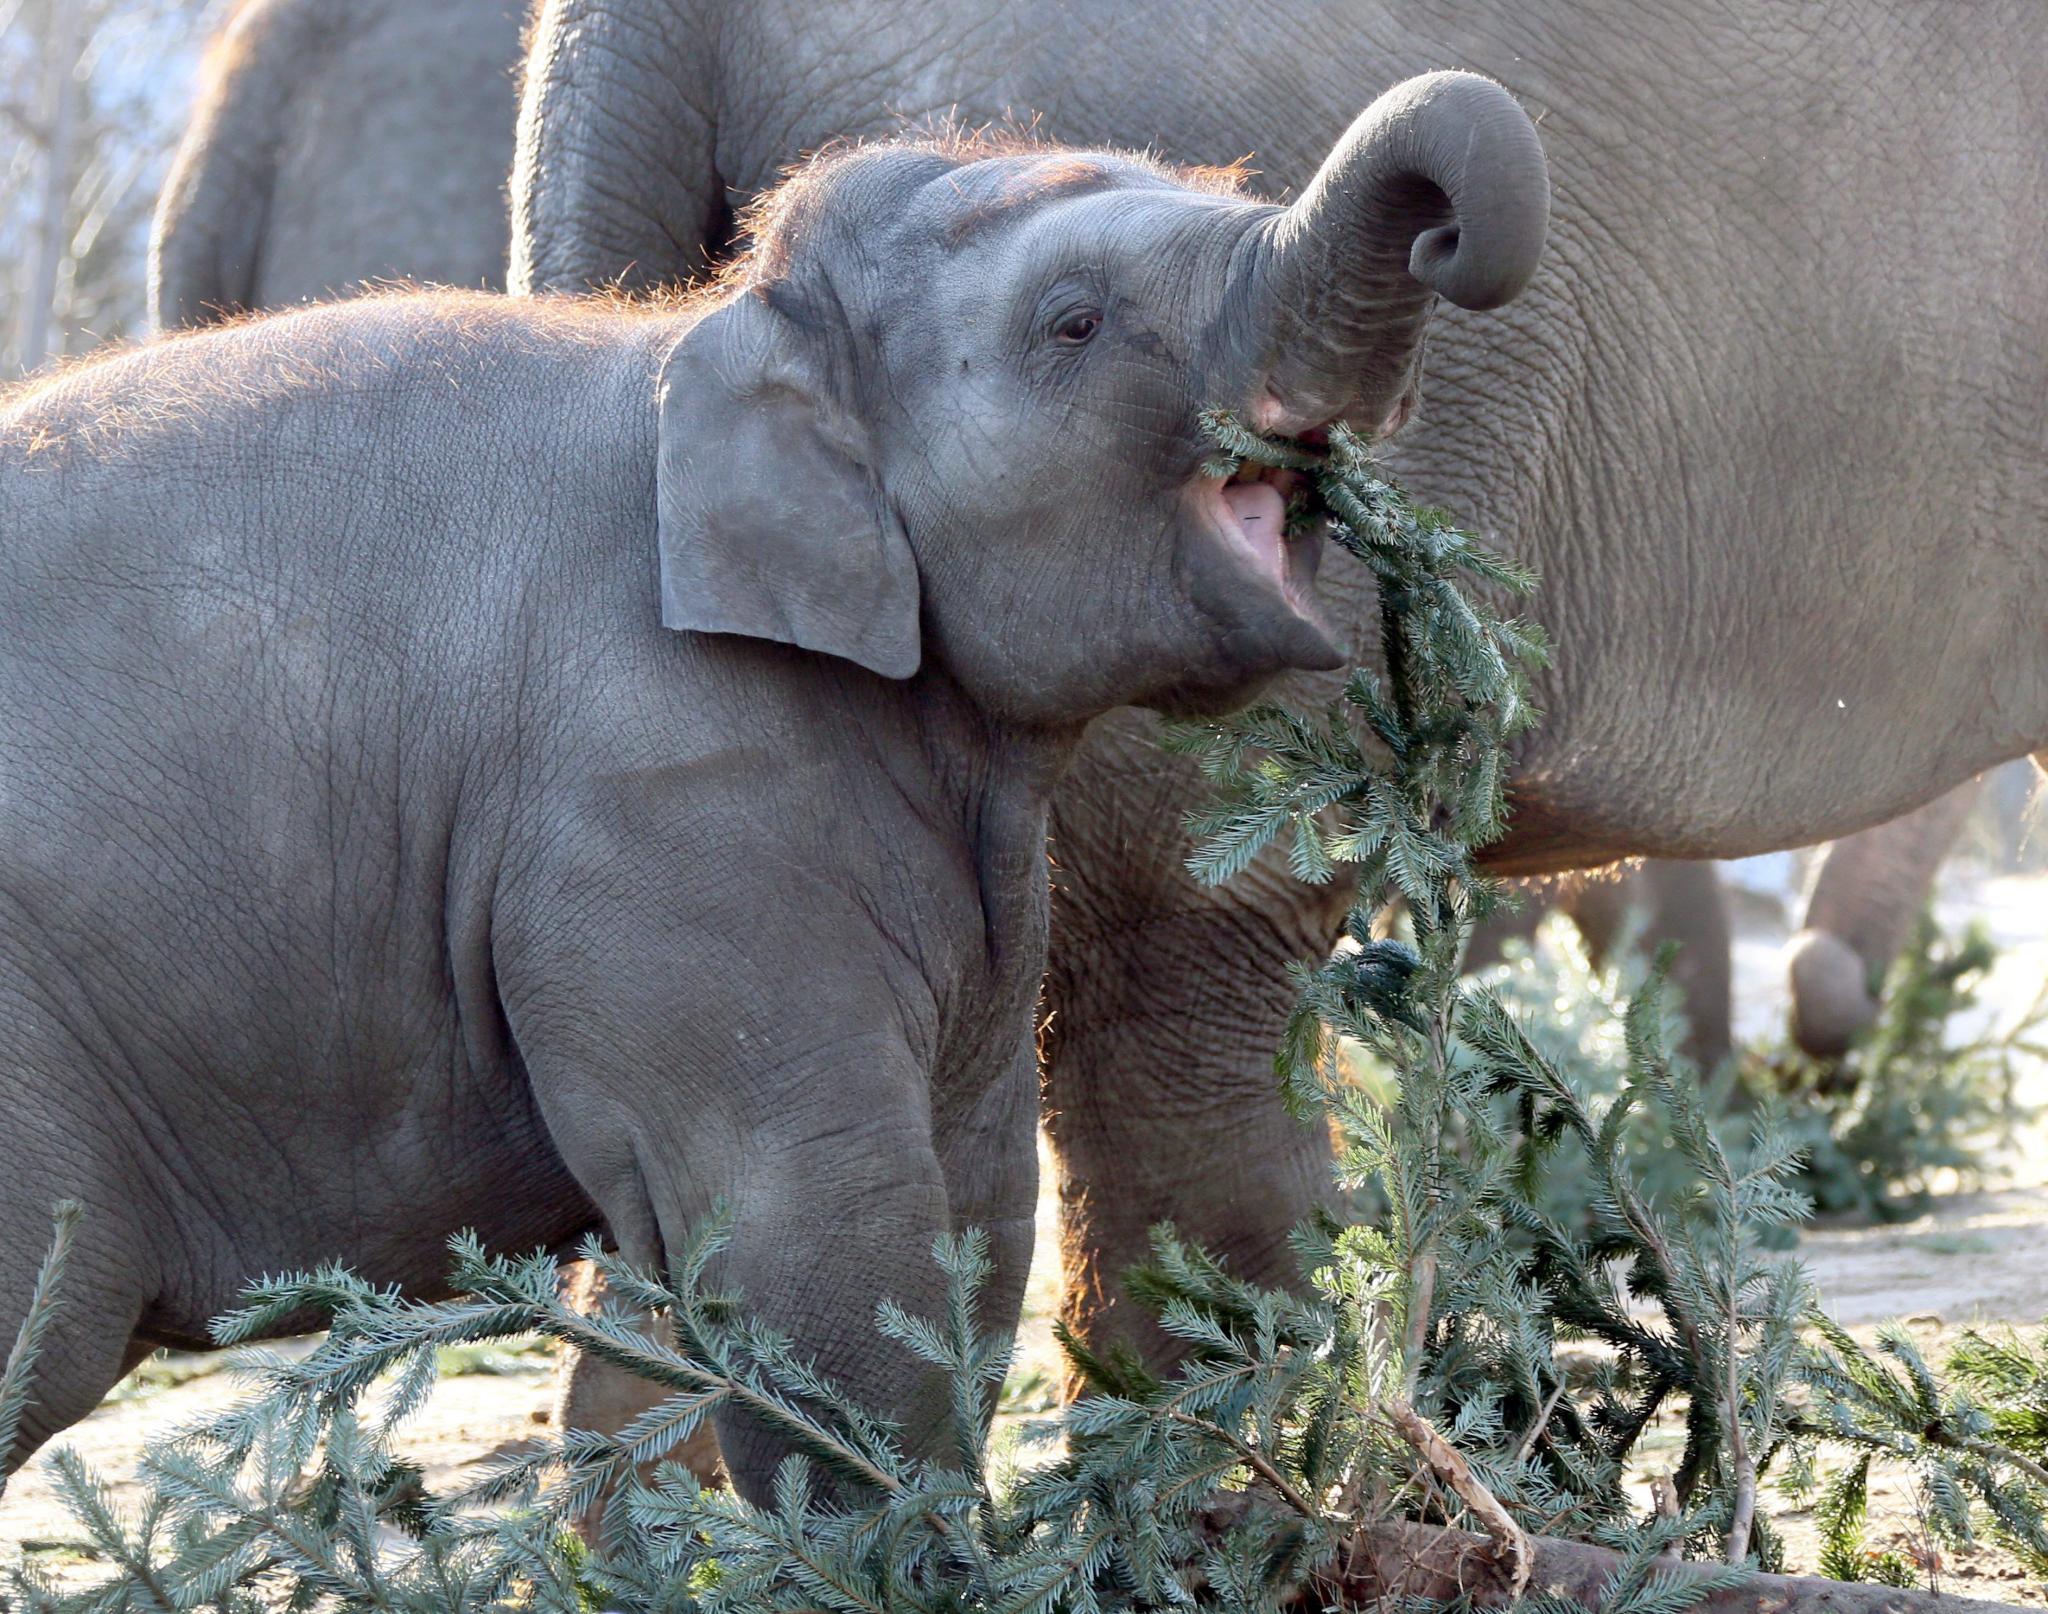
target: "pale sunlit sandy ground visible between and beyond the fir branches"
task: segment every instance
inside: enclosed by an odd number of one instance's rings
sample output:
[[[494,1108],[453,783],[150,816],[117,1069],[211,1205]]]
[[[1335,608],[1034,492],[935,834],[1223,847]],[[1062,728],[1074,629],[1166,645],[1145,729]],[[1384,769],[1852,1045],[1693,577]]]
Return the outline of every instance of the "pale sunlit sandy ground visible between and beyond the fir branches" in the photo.
[[[1790,928],[1790,864],[1737,868],[1745,885],[1739,899],[1737,979],[1741,1030],[1759,1034],[1782,1024],[1782,987],[1776,948]],[[1962,922],[1982,916],[2005,944],[1997,975],[1985,993],[1989,1020],[2017,1014],[2048,979],[2048,877],[1989,877],[1968,868],[1946,881],[1942,918]],[[2048,1071],[2030,1077],[2032,1100],[2048,1100]],[[1972,1323],[2034,1325],[2048,1317],[2048,1129],[2036,1124],[2013,1137],[1999,1161],[1995,1186],[1933,1202],[1917,1221],[1888,1227],[1821,1227],[1802,1241],[1831,1311],[1868,1337],[1876,1323],[1905,1319],[1927,1342],[1939,1342]],[[1012,1415],[1051,1405],[1057,1350],[1051,1311],[1057,1272],[1051,1241],[1051,1202],[1040,1204],[1038,1262],[1032,1272],[1020,1362],[1008,1393]],[[498,1354],[459,1376],[412,1426],[410,1450],[424,1460],[434,1485],[502,1446],[543,1430],[551,1415],[553,1360],[545,1350]],[[133,1497],[127,1481],[143,1444],[238,1393],[221,1358],[160,1358],[145,1364],[109,1401],[68,1436],[102,1477],[117,1501]],[[1792,1561],[1810,1569],[1815,1557],[1810,1516],[1780,1512]],[[49,1485],[47,1462],[33,1462],[0,1501],[0,1559],[27,1548],[57,1569],[84,1571],[82,1532]],[[2015,1563],[1991,1553],[1931,1559],[1913,1526],[1913,1497],[1898,1477],[1878,1479],[1872,1510],[1872,1544],[1915,1555],[1944,1589],[2001,1602],[2048,1604],[2048,1587],[2028,1581]]]

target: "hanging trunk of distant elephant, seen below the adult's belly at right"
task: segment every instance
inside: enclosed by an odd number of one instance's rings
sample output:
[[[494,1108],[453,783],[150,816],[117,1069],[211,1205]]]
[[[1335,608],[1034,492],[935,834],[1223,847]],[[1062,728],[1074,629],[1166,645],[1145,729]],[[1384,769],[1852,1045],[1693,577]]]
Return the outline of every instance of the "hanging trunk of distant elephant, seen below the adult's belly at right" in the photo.
[[[1839,1059],[1876,1024],[1884,977],[1980,795],[1982,780],[1972,778],[1827,848],[1806,893],[1806,922],[1786,946],[1792,1040],[1815,1059]]]

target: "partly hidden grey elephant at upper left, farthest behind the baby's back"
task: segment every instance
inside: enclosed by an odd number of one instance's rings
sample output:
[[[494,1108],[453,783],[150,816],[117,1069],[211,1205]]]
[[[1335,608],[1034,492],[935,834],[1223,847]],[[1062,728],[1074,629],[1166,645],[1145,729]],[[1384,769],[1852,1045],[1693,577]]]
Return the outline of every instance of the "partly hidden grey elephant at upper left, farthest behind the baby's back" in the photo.
[[[502,289],[526,0],[248,0],[158,199],[158,330],[410,279]]]

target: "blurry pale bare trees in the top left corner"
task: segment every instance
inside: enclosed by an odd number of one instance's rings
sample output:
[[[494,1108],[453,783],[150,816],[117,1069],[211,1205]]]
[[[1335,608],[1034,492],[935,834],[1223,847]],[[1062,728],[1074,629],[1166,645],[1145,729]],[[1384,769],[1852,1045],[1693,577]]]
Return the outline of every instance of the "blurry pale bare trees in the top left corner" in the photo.
[[[150,209],[223,0],[0,0],[0,375],[141,326]]]

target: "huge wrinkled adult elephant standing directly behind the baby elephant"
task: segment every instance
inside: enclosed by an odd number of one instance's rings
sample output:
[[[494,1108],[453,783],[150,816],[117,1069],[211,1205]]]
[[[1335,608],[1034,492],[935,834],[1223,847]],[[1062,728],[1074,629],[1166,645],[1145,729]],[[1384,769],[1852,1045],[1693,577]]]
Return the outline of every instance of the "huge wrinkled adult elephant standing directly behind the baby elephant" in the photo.
[[[1499,866],[1804,846],[2048,741],[2038,0],[549,0],[514,285],[686,274],[778,164],[895,115],[1249,154],[1286,195],[1358,84],[1434,66],[1507,84],[1556,182],[1530,295],[1438,322],[1391,457],[1546,578],[1561,655]],[[1329,567],[1325,598],[1370,655],[1362,580]],[[1126,715],[1055,803],[1047,1102],[1083,1329],[1151,1221],[1284,1278],[1325,1188],[1270,1057],[1341,893],[1278,862],[1190,885],[1198,795]]]

